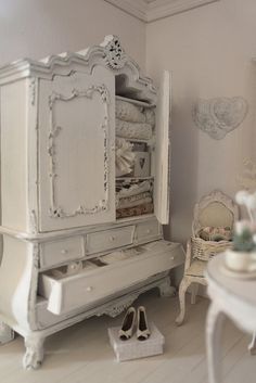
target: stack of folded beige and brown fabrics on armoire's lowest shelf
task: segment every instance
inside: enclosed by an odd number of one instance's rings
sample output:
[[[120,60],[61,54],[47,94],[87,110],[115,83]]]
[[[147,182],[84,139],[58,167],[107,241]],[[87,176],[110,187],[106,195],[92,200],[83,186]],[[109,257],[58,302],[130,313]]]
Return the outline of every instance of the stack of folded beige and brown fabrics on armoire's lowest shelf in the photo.
[[[116,193],[116,217],[125,218],[153,213],[153,187],[151,181],[123,187]]]

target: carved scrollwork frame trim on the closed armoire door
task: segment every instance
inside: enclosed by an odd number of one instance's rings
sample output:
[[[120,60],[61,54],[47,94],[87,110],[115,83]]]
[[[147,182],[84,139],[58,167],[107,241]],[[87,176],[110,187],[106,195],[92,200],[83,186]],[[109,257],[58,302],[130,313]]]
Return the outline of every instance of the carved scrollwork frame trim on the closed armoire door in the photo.
[[[92,99],[93,94],[98,92],[101,95],[102,103],[104,106],[104,118],[101,125],[103,131],[103,142],[104,142],[104,197],[93,207],[87,207],[85,205],[79,205],[74,212],[65,212],[63,207],[57,204],[56,201],[56,138],[60,135],[62,127],[56,126],[54,122],[54,104],[56,101],[65,101],[68,102],[75,98],[85,97],[87,99]],[[85,91],[78,91],[73,89],[72,94],[66,97],[61,93],[53,92],[49,98],[49,108],[50,108],[50,120],[51,128],[49,133],[49,145],[48,145],[48,155],[50,158],[50,186],[51,186],[51,207],[49,209],[49,216],[52,218],[66,218],[66,217],[75,217],[77,215],[87,215],[87,214],[95,214],[99,212],[108,209],[108,91],[104,85],[101,86],[90,86]]]

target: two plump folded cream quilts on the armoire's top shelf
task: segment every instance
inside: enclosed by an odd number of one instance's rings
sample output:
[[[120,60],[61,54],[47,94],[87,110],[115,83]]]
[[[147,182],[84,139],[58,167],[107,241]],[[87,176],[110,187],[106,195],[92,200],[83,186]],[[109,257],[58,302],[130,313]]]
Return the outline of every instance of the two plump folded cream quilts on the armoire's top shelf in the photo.
[[[153,135],[155,113],[130,102],[116,100],[116,136],[150,140]]]

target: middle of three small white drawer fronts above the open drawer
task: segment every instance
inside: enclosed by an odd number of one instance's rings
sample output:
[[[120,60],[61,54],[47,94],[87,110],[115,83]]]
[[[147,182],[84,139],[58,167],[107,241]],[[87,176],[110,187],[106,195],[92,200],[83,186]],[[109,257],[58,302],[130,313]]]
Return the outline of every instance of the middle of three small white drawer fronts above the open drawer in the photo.
[[[135,226],[105,230],[87,235],[87,253],[100,253],[132,243]]]

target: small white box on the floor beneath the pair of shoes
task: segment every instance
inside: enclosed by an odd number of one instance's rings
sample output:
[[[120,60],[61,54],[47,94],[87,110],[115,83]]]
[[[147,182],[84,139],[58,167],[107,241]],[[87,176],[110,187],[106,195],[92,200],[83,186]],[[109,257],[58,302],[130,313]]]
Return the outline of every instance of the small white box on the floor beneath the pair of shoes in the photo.
[[[114,348],[117,361],[144,358],[152,355],[164,353],[164,335],[155,327],[150,323],[151,335],[146,341],[138,341],[136,333],[128,341],[121,341],[118,337],[119,328],[108,329],[111,345]]]

